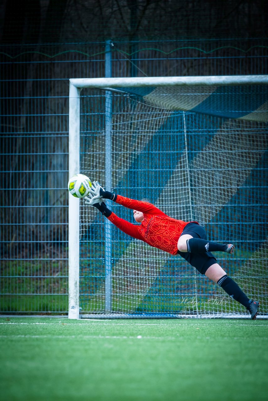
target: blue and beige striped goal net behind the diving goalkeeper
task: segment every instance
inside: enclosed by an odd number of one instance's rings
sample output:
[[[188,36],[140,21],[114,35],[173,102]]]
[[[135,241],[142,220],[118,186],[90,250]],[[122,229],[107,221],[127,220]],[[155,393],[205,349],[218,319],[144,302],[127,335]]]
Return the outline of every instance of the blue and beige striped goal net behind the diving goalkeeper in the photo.
[[[215,257],[267,316],[268,86],[85,87],[79,119],[76,172],[234,243],[233,255]],[[179,255],[127,236],[83,201],[79,299],[84,318],[249,316]]]

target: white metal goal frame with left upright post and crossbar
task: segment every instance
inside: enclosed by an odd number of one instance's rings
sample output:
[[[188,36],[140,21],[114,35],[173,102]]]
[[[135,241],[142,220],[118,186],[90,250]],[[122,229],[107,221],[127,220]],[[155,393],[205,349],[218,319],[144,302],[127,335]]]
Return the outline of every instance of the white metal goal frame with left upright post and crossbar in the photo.
[[[200,76],[200,77],[135,77],[135,78],[85,78],[70,79],[69,93],[69,177],[80,173],[80,93],[84,89],[103,89],[105,93],[110,91],[114,93],[125,92],[126,88],[146,88],[146,87],[164,87],[164,88],[194,88],[194,87],[223,87],[231,85],[268,85],[268,75],[227,75],[227,76]],[[211,93],[211,92],[210,92]],[[205,95],[204,98],[207,98]],[[170,100],[169,100],[170,101]],[[109,97],[106,95],[106,104]],[[156,105],[155,105],[156,104]],[[173,104],[173,103],[172,103]],[[152,107],[160,107],[158,103],[152,103]],[[173,107],[173,106],[172,106]],[[172,110],[176,108],[171,108]],[[178,107],[180,109],[180,107]],[[193,107],[194,109],[194,107]],[[186,109],[181,109],[182,113]],[[183,111],[184,110],[184,111]],[[263,111],[263,110],[262,110]],[[106,124],[109,121],[106,116]],[[185,115],[183,115],[185,130]],[[214,146],[214,145],[213,145]],[[260,147],[262,144],[260,144]],[[256,151],[257,152],[257,151]],[[106,154],[106,167],[110,163]],[[260,156],[254,161],[256,164]],[[186,160],[188,163],[188,159]],[[234,162],[235,163],[235,162]],[[254,164],[254,165],[255,165]],[[188,166],[188,164],[186,164]],[[108,168],[108,167],[107,167]],[[109,166],[110,168],[110,166]],[[82,171],[86,174],[85,171]],[[91,180],[98,177],[90,177]],[[189,176],[188,176],[189,180]],[[111,184],[112,185],[112,184]],[[108,189],[106,187],[106,189]],[[124,195],[124,194],[122,194]],[[230,195],[231,197],[231,195]],[[166,212],[165,212],[166,213]],[[168,213],[167,213],[168,214]],[[178,217],[179,218],[179,217]],[[109,228],[106,227],[106,232]],[[111,280],[107,277],[107,280]],[[107,281],[108,282],[108,281]],[[80,318],[80,201],[69,194],[69,312],[70,319]],[[110,281],[109,281],[110,285]],[[106,283],[107,287],[107,283]],[[111,311],[110,298],[111,293],[104,290],[106,300],[104,301],[105,311]],[[101,312],[102,313],[102,312]],[[119,314],[120,316],[120,314]],[[198,316],[198,314],[197,314]],[[203,315],[205,316],[205,314]],[[199,315],[198,317],[203,317]],[[229,317],[233,314],[230,313]],[[173,316],[176,317],[176,316]],[[178,316],[180,317],[180,316]],[[209,316],[210,317],[210,316]],[[215,315],[215,317],[217,317]],[[239,317],[235,315],[234,317]]]

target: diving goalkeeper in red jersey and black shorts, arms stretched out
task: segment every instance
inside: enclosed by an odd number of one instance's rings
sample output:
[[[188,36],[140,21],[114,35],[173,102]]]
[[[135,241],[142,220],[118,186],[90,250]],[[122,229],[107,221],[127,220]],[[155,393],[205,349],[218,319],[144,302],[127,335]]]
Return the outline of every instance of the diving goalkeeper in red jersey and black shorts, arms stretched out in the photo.
[[[85,204],[96,207],[111,223],[133,238],[140,239],[152,247],[171,253],[179,254],[199,273],[206,275],[217,283],[231,298],[240,302],[250,312],[251,318],[256,319],[260,302],[248,298],[241,288],[229,277],[217,263],[211,252],[221,251],[233,253],[234,245],[220,244],[207,239],[207,233],[196,221],[185,222],[172,219],[151,203],[126,198],[104,190],[98,181],[92,183]],[[133,217],[140,225],[129,223],[110,211],[104,199],[110,199],[133,209]]]

